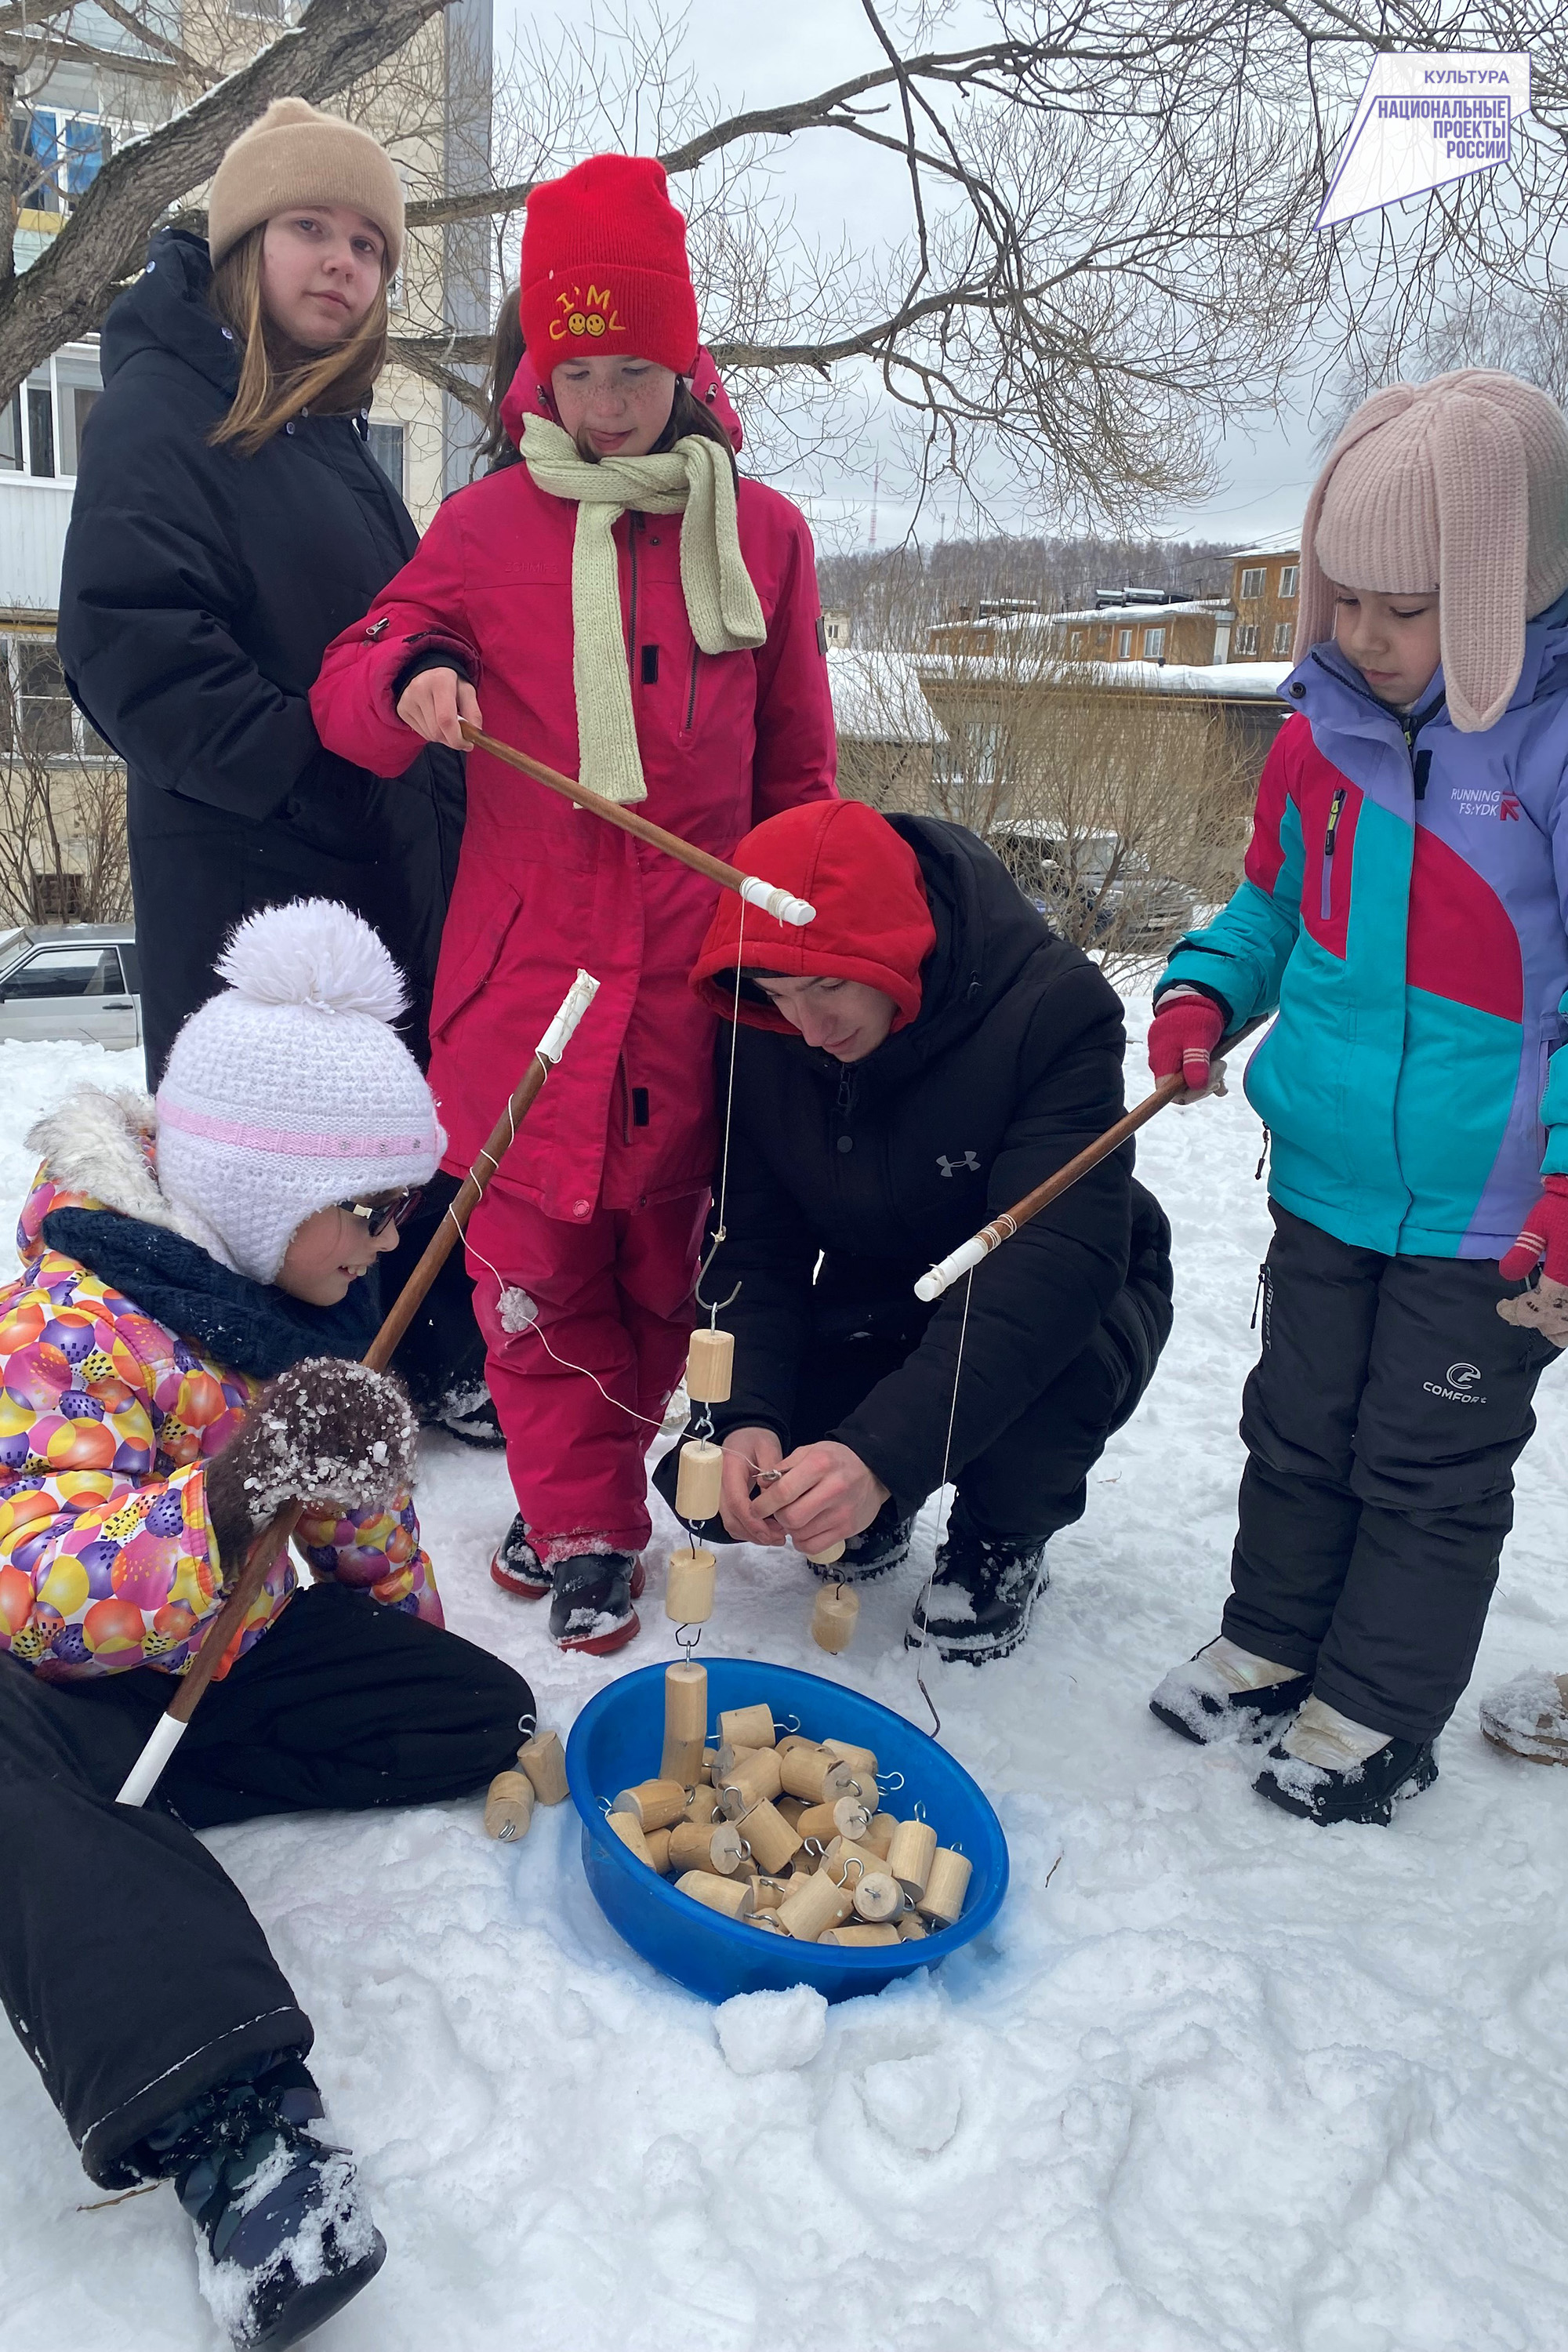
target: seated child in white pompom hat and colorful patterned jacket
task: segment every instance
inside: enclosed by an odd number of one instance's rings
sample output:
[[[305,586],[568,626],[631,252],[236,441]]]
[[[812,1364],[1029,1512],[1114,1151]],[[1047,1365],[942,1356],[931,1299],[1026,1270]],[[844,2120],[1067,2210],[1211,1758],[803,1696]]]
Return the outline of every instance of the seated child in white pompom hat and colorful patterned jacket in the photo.
[[[287,2345],[386,2244],[303,2065],[310,2020],[195,1832],[484,1788],[527,1684],[442,1630],[414,1416],[360,1364],[371,1268],[435,1171],[376,934],[252,915],[148,1103],[33,1129],[0,1291],[0,1997],[103,2187],[172,2180],[235,2345]],[[115,1792],[261,1524],[313,1498],[153,1804]]]

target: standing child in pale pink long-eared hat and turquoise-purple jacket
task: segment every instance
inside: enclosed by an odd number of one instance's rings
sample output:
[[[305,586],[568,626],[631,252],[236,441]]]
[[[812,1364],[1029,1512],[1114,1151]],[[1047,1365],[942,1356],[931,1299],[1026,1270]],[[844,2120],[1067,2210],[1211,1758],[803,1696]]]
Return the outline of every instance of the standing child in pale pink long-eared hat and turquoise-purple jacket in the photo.
[[[1284,1733],[1253,1788],[1319,1823],[1436,1778],[1568,1341],[1566,590],[1556,402],[1490,369],[1366,400],[1307,503],[1246,880],[1157,990],[1150,1063],[1194,1091],[1272,1016],[1274,1242],[1220,1637],[1152,1708]]]

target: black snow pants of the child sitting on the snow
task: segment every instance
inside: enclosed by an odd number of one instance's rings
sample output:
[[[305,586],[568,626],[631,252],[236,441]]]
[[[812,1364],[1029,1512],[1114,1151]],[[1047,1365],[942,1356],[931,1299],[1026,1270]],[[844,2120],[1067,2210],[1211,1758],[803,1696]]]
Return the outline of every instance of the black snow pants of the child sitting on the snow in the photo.
[[[134,2183],[143,2133],[237,2065],[313,2042],[193,1830],[463,1797],[534,1726],[510,1665],[315,1585],[212,1684],[153,1799],[115,1804],[172,1689],[150,1668],[49,1684],[0,1658],[0,1997],[106,2187]]]

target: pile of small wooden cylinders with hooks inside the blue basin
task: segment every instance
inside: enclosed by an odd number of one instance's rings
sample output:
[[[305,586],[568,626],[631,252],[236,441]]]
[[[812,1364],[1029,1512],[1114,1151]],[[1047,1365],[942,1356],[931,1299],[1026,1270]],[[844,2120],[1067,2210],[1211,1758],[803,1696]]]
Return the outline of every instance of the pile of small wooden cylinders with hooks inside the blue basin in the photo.
[[[717,1748],[705,1731],[705,1668],[668,1668],[658,1778],[618,1790],[607,1813],[679,1893],[799,1943],[907,1943],[961,1915],[969,1858],[882,1809],[870,1748],[780,1736],[766,1705],[719,1715]]]

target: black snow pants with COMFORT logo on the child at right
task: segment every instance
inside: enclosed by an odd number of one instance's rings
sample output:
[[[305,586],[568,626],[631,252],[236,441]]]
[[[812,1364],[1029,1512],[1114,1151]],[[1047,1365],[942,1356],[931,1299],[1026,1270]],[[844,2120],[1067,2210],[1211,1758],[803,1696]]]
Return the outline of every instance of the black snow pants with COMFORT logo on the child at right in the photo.
[[[1469,1682],[1556,1348],[1493,1258],[1385,1258],[1274,1204],[1225,1635],[1371,1731],[1429,1740]]]

